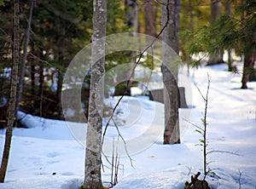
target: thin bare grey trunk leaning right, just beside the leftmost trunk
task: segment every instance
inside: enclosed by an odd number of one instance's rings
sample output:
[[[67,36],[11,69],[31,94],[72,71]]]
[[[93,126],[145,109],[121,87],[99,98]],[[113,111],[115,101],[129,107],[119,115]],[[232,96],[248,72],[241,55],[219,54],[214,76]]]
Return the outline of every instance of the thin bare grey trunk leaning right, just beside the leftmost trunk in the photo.
[[[30,27],[31,27],[31,22],[32,22],[32,12],[33,12],[33,8],[34,8],[34,1],[35,0],[31,0],[31,3],[30,3],[29,16],[28,16],[27,27],[26,27],[26,36],[25,36],[25,43],[24,43],[24,49],[23,49],[24,53],[23,53],[22,62],[21,62],[20,79],[19,79],[19,85],[18,85],[18,95],[17,95],[17,100],[16,100],[16,111],[19,110],[19,102],[21,100],[21,94],[22,94],[22,89],[23,89],[23,79],[24,79],[25,68],[26,68],[27,46],[28,46],[29,37],[30,37]]]

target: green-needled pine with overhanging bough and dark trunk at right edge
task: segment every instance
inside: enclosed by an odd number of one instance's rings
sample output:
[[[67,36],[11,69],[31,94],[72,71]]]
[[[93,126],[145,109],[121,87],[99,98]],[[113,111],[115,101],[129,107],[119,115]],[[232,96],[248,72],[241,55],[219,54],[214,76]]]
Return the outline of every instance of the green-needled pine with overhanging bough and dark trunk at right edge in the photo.
[[[224,49],[234,49],[236,54],[244,56],[241,89],[247,89],[250,75],[255,77],[256,3],[253,0],[237,2],[234,9],[234,13],[220,16],[211,26],[201,26],[190,33],[189,54],[201,51],[218,54]]]

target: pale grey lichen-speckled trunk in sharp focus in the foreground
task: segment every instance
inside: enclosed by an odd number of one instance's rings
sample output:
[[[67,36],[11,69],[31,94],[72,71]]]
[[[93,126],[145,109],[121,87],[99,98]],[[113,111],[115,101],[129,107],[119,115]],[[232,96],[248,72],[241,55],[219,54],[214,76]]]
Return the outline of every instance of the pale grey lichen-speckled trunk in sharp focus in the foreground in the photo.
[[[92,67],[90,77],[90,100],[85,153],[84,188],[102,189],[102,110],[103,78],[105,72],[105,41],[107,25],[107,0],[94,0]],[[102,54],[103,52],[103,54]],[[97,60],[97,56],[102,58]]]

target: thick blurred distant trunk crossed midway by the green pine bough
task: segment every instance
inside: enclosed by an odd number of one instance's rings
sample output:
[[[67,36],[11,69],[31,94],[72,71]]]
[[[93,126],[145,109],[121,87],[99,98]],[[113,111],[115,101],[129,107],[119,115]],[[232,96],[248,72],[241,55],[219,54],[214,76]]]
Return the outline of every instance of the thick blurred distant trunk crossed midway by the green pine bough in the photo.
[[[211,24],[220,16],[220,6],[220,0],[211,0]],[[223,52],[219,52],[210,55],[207,65],[214,65],[222,62],[224,62]]]

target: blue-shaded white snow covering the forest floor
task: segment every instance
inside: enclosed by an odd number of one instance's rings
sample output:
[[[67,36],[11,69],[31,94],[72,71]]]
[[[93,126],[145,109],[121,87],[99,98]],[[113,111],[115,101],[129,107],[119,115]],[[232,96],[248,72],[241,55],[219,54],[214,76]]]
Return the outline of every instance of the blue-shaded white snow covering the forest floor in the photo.
[[[238,65],[241,71],[241,65]],[[181,71],[181,75],[187,71]],[[213,188],[256,187],[256,83],[249,89],[240,89],[241,74],[227,72],[226,65],[206,66],[191,71],[187,89],[188,109],[180,109],[181,144],[162,145],[164,106],[149,101],[145,96],[125,97],[119,106],[117,120],[123,126],[120,133],[127,140],[130,159],[122,151],[119,140],[119,183],[114,188],[177,188],[183,189],[186,180],[202,169],[201,146],[196,146],[201,135],[188,123],[201,125],[207,89],[207,73],[211,77],[208,108],[209,167],[218,176],[207,178]],[[181,82],[181,85],[188,83]],[[113,105],[117,99],[109,100]],[[21,113],[20,113],[21,115]],[[22,116],[22,115],[21,115]],[[23,115],[24,116],[24,115]],[[122,122],[125,120],[125,122]],[[42,119],[26,115],[23,121],[30,129],[14,129],[6,182],[3,189],[72,189],[81,186],[84,179],[84,123]],[[2,157],[5,130],[0,130]],[[79,135],[80,134],[80,135]],[[106,135],[106,153],[111,154],[114,127]],[[105,158],[103,163],[109,167]],[[111,159],[111,157],[110,157]],[[102,172],[108,186],[111,170]]]

